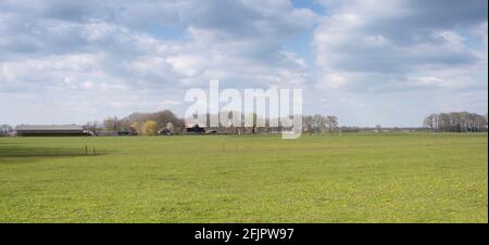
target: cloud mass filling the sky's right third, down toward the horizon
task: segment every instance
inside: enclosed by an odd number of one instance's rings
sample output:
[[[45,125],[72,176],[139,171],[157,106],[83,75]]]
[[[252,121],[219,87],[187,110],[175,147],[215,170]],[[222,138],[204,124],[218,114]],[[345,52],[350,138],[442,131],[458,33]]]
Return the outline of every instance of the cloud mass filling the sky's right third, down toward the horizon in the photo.
[[[446,108],[487,112],[487,1],[317,2],[326,15],[313,37],[314,87],[355,98],[338,114],[372,125],[364,112],[390,112],[398,119],[383,120],[402,125],[410,116],[400,108],[419,118]]]

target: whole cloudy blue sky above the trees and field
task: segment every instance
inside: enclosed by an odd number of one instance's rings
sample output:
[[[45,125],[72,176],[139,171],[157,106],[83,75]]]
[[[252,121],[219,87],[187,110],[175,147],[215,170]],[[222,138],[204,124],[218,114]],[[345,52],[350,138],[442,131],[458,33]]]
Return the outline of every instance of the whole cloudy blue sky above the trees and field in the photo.
[[[487,0],[0,0],[0,124],[163,108],[189,88],[303,88],[340,125],[488,109]]]

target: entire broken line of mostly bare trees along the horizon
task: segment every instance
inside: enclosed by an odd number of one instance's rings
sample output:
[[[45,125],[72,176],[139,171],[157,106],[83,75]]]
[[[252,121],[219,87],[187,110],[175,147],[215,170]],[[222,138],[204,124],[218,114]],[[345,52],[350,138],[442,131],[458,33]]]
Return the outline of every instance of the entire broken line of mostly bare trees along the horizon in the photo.
[[[229,112],[230,115],[244,115],[239,112]],[[218,115],[217,115],[218,116]],[[209,125],[211,115],[204,115]],[[269,127],[269,118],[261,118],[253,115],[253,124],[250,127],[231,126],[206,127],[206,130],[222,133],[274,133],[286,130],[285,128]],[[256,121],[265,120],[265,127],[259,127]],[[276,119],[272,119],[276,120]],[[275,124],[276,125],[276,124]],[[126,117],[106,117],[101,122],[95,120],[84,125],[84,129],[97,136],[120,136],[140,134],[154,136],[161,132],[179,133],[186,129],[185,119],[179,118],[170,109],[156,113],[133,113]],[[397,131],[423,131],[431,130],[436,132],[486,132],[488,131],[488,116],[468,112],[438,113],[428,115],[423,121],[423,128],[383,128],[375,127],[346,127],[339,126],[338,118],[334,115],[304,115],[302,117],[303,133],[334,133],[334,132],[397,132]],[[14,127],[9,125],[0,126],[0,137],[10,136]]]

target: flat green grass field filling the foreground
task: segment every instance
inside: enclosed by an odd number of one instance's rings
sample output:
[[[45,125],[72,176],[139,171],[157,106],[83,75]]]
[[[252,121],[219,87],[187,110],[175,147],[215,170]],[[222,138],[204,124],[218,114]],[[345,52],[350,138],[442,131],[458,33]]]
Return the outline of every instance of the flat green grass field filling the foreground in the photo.
[[[488,222],[488,137],[0,138],[0,222]]]

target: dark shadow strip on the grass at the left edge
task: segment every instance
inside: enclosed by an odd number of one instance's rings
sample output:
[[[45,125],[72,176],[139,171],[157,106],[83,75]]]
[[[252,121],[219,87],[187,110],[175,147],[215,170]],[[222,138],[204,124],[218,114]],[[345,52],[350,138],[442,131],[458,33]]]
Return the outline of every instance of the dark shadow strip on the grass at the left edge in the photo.
[[[106,152],[97,150],[96,156],[106,155]],[[29,159],[53,158],[53,157],[73,157],[73,156],[93,156],[92,150],[86,155],[85,146],[79,149],[62,147],[34,147],[22,144],[0,144],[0,163],[7,159]],[[22,162],[22,160],[21,160]]]

